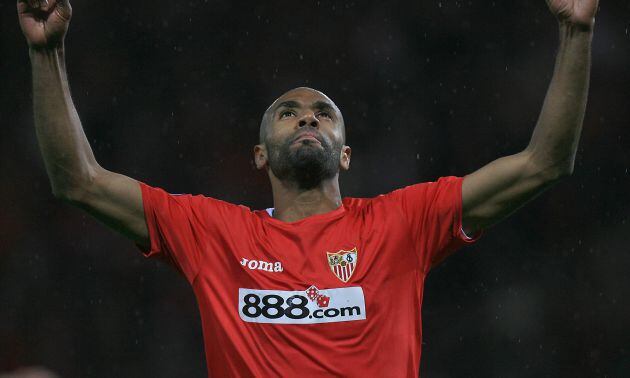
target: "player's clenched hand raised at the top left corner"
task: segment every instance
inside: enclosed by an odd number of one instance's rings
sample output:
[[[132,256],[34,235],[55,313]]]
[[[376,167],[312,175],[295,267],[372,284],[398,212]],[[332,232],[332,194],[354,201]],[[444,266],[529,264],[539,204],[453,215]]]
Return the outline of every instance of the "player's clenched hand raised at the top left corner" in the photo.
[[[63,44],[72,7],[68,0],[18,0],[20,27],[31,48],[55,48]]]

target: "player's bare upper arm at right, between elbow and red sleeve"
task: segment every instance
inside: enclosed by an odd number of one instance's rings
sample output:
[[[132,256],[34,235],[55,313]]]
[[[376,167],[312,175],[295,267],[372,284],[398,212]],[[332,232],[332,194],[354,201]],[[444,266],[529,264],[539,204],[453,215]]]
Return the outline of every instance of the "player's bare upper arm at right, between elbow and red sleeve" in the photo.
[[[559,175],[526,150],[497,159],[462,184],[462,225],[468,235],[491,226],[551,186]]]

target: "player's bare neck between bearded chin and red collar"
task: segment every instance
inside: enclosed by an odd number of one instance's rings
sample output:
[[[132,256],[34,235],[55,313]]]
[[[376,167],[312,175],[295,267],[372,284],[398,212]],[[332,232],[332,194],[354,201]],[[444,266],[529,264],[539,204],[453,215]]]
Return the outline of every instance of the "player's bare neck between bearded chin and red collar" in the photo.
[[[341,206],[339,175],[322,181],[315,188],[300,189],[293,182],[270,175],[273,192],[273,217],[283,222],[296,222],[312,215],[324,214]]]

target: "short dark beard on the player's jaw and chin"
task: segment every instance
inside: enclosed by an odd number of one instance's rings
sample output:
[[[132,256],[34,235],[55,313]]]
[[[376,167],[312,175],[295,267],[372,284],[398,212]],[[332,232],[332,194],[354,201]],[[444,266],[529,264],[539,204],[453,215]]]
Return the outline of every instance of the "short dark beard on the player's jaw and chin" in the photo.
[[[321,147],[312,140],[302,140],[297,146],[291,147],[298,134],[301,131],[284,142],[267,141],[268,164],[280,181],[293,183],[301,190],[309,190],[339,173],[342,145],[329,142],[318,133]]]

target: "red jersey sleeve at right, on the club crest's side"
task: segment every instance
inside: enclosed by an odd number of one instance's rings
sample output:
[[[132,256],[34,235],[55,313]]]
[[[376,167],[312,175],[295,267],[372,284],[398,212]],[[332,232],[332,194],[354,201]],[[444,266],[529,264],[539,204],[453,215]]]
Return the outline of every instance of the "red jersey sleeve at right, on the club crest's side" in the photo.
[[[420,263],[427,271],[483,233],[468,236],[462,229],[463,181],[463,177],[440,177],[390,193],[409,224]]]

